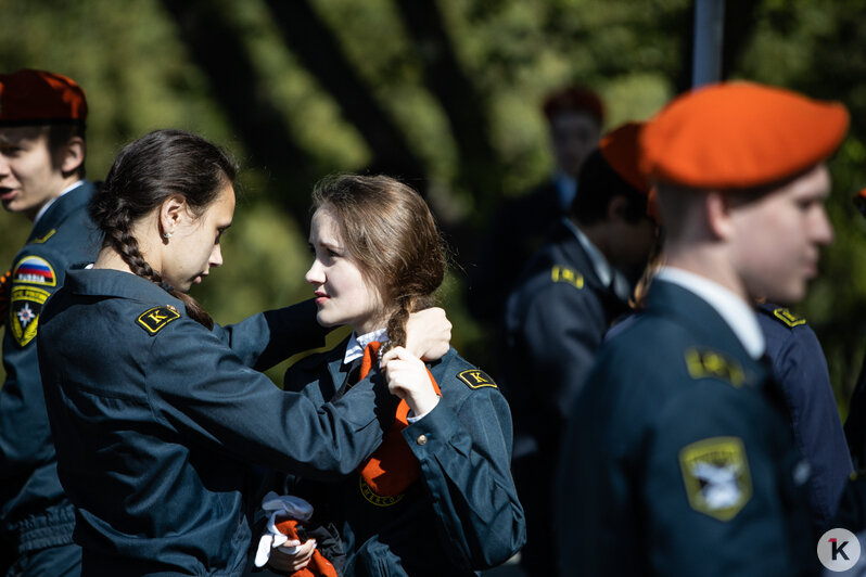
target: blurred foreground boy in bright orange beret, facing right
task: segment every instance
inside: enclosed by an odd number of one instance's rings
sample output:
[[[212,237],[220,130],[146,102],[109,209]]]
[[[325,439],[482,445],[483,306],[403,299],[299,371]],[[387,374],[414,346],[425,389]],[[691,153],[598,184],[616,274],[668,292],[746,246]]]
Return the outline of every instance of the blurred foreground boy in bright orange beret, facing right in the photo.
[[[641,137],[666,265],[599,350],[558,482],[574,575],[817,570],[806,484],[752,303],[805,295],[832,240],[840,104],[748,82],[677,98]],[[807,137],[805,137],[807,136]]]

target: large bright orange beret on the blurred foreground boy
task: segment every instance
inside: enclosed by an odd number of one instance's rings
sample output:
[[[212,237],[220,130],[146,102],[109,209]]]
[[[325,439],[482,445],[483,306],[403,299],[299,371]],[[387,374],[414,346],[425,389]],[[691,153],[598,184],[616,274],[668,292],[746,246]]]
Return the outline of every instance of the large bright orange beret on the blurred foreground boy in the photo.
[[[751,82],[723,82],[674,99],[640,137],[641,171],[699,189],[771,184],[830,156],[848,131],[836,102]]]

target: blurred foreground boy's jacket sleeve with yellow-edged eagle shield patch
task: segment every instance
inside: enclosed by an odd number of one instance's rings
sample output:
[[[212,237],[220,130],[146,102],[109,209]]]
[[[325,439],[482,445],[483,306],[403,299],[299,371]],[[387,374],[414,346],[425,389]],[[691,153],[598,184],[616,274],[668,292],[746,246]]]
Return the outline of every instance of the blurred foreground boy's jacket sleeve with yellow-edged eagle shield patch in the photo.
[[[781,409],[760,394],[705,381],[661,407],[638,486],[651,573],[757,577],[817,568],[802,505],[807,467]]]

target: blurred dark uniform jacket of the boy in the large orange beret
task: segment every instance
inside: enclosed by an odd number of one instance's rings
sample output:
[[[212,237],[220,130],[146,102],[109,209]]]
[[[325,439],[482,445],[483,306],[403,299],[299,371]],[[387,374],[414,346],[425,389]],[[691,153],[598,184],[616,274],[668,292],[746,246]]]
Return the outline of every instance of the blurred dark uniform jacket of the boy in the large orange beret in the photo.
[[[781,394],[706,302],[657,280],[572,412],[564,575],[766,576],[817,566]]]

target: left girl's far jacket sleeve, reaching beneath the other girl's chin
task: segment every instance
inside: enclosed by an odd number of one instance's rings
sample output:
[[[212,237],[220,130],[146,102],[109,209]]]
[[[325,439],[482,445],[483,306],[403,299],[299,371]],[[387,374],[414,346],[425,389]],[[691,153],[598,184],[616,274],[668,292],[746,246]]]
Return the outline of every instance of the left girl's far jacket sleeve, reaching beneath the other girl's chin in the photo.
[[[266,371],[295,352],[324,345],[330,329],[316,321],[316,304],[304,300],[290,307],[253,315],[214,334],[247,367]]]

